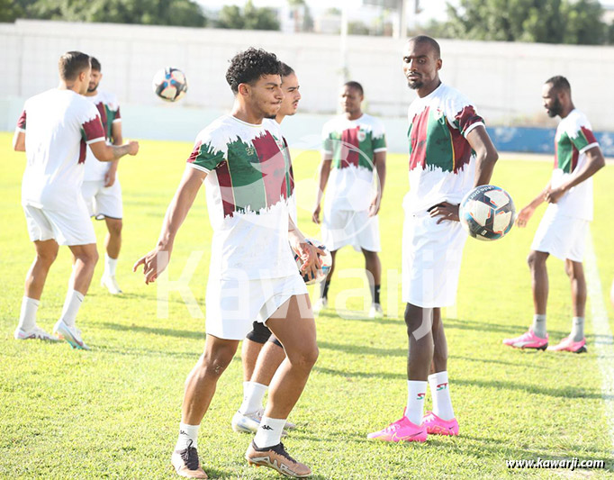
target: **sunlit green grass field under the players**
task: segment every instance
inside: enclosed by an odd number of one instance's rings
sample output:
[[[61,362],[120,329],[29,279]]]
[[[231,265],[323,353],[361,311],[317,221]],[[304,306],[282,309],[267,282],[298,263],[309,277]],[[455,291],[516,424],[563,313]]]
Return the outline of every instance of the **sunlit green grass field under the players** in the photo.
[[[131,265],[151,249],[191,145],[143,141],[137,158],[122,159],[124,245],[118,280],[126,294],[112,297],[98,282],[102,265],[79,312],[77,324],[92,351],[68,344],[13,340],[32,258],[20,207],[23,154],[0,134],[3,174],[0,202],[0,477],[2,478],[172,478],[174,447],[185,376],[200,355],[204,319],[193,318],[181,296],[170,296],[168,318],[157,314],[156,285],[144,285]],[[311,207],[315,152],[294,152],[299,205]],[[492,183],[508,189],[517,207],[546,183],[549,162],[501,160]],[[595,177],[595,221],[591,231],[605,295],[614,276],[610,206],[614,167]],[[402,195],[406,159],[388,158],[381,212],[384,271],[400,271]],[[601,394],[600,370],[587,308],[588,354],[550,354],[503,348],[501,339],[525,331],[532,318],[525,258],[543,209],[528,229],[504,240],[468,240],[456,312],[445,320],[450,390],[460,421],[457,438],[430,437],[421,445],[366,440],[402,414],[406,397],[407,339],[400,286],[384,275],[384,320],[359,312],[340,318],[334,310],[317,321],[321,355],[291,419],[298,424],[285,444],[312,466],[317,479],[405,478],[606,478],[614,457]],[[320,236],[299,209],[303,231]],[[189,285],[204,312],[203,298],[211,229],[203,192],[176,240],[170,279],[181,275],[193,251],[203,252]],[[99,247],[104,224],[96,225]],[[102,250],[101,250],[102,251]],[[339,252],[337,272],[360,267],[362,256]],[[569,282],[563,263],[552,258],[548,327],[552,341],[570,328]],[[68,249],[52,267],[39,309],[39,324],[51,330],[62,307],[70,275]],[[333,278],[330,298],[358,288],[360,278]],[[365,294],[367,292],[365,291]],[[359,297],[348,307],[362,310]],[[608,303],[609,318],[612,310]],[[610,322],[610,328],[614,327]],[[613,328],[614,330],[614,328]],[[200,457],[212,478],[275,478],[275,472],[247,466],[248,436],[230,429],[241,400],[239,355],[218,384],[203,421]],[[611,381],[611,379],[610,379]],[[429,394],[427,395],[429,407]],[[610,399],[611,400],[611,399]],[[611,419],[610,419],[611,420]],[[600,470],[510,470],[506,459],[604,459]]]

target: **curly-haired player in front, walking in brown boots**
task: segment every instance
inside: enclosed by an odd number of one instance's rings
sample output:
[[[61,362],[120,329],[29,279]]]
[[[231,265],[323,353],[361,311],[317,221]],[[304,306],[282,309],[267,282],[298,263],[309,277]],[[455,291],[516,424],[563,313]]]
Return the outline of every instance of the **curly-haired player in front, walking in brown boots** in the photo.
[[[226,80],[235,95],[232,112],[198,134],[158,245],[134,265],[144,266],[148,284],[167,267],[176,233],[204,183],[213,229],[207,336],[185,383],[172,464],[178,475],[206,478],[196,449],[198,430],[219,377],[257,319],[282,342],[287,358],[271,383],[265,414],[245,457],[249,464],[284,475],[307,476],[310,468],[290,457],[281,443],[285,419],[318,357],[307,287],[288,241],[301,252],[308,275],[315,275],[321,250],[305,241],[289,215],[283,138],[276,122],[265,121],[284,98],[279,61],[265,50],[242,51],[230,60]]]

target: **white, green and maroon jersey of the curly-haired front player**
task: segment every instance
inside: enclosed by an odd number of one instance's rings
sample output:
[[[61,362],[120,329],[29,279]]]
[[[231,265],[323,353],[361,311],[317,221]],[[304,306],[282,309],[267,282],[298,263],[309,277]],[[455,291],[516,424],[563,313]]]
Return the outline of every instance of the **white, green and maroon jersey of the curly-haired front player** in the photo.
[[[288,246],[292,165],[276,122],[224,115],[196,137],[188,165],[207,172],[213,229],[210,276],[240,270],[248,279],[297,273]],[[235,274],[236,275],[236,274]]]

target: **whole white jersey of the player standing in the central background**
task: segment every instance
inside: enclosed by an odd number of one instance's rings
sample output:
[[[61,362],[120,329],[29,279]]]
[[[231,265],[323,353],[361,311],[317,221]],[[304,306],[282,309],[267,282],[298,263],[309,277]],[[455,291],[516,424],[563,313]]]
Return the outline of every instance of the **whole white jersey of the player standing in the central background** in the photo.
[[[375,153],[386,151],[384,124],[363,113],[356,120],[333,118],[322,129],[322,151],[332,157],[326,207],[361,212],[369,208],[374,185]],[[371,192],[373,195],[369,195]]]

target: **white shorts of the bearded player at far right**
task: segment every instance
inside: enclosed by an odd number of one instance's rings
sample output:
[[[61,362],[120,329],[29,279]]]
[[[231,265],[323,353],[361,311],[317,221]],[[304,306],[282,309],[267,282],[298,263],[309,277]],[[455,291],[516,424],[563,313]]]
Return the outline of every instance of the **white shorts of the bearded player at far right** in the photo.
[[[560,213],[548,205],[539,222],[531,249],[543,251],[562,260],[582,262],[589,221]]]

